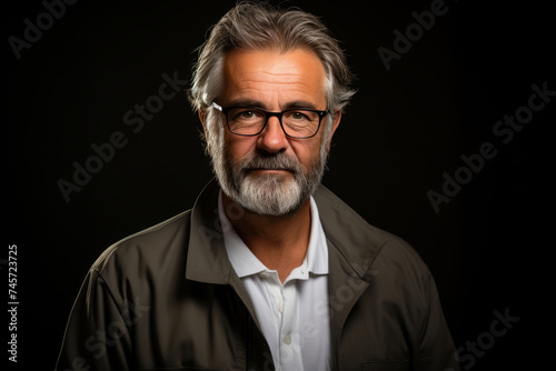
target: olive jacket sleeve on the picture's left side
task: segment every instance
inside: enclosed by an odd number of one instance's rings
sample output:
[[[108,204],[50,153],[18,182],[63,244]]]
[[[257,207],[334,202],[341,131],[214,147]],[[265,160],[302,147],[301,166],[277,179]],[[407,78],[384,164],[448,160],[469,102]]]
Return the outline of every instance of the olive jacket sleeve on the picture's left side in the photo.
[[[56,370],[129,370],[129,307],[91,269],[71,310]]]

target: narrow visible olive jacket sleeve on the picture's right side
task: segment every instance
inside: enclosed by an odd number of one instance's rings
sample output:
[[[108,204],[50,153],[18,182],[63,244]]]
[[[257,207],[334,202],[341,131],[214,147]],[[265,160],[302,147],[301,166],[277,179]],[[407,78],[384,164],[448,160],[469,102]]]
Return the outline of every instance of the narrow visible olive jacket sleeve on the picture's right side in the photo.
[[[416,357],[415,370],[423,371],[459,371],[456,349],[451,339],[436,283],[431,275],[428,280],[428,317],[425,319],[419,354]],[[421,362],[425,361],[425,362]]]

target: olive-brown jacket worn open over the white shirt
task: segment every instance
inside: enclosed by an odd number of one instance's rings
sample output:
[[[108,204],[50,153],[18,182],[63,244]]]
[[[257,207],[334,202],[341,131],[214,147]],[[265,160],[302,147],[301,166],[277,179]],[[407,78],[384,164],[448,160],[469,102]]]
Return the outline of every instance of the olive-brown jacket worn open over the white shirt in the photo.
[[[211,181],[195,207],[108,248],[89,270],[57,370],[274,370],[234,271]],[[325,187],[332,370],[458,370],[430,272]],[[308,370],[306,370],[308,371]]]

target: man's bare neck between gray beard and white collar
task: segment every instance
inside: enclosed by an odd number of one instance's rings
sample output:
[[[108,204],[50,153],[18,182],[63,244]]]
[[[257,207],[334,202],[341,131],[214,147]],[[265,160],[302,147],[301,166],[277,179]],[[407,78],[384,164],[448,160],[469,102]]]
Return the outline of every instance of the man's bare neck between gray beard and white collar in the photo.
[[[282,217],[259,215],[244,209],[238,213],[237,208],[240,207],[224,193],[222,205],[245,244],[265,267],[278,271],[281,282],[301,265],[310,239],[309,199],[299,210]],[[238,218],[238,214],[241,217]]]

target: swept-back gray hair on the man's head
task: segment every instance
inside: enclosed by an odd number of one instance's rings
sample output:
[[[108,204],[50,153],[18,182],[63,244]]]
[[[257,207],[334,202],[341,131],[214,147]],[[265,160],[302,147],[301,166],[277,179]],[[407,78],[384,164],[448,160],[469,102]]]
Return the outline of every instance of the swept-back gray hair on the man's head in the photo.
[[[226,53],[234,49],[269,48],[282,52],[308,48],[317,54],[325,68],[326,97],[331,112],[344,109],[355,93],[349,88],[353,74],[344,51],[317,17],[298,9],[244,2],[214,26],[210,37],[199,48],[188,92],[193,110],[205,110],[217,98]]]

